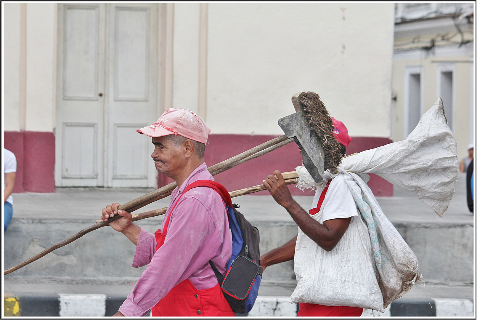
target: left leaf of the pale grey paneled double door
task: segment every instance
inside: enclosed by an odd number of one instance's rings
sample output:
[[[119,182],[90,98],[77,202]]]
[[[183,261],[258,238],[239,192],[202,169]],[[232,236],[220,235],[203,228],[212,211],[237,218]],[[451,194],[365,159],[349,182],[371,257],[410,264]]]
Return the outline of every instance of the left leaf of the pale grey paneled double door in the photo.
[[[55,184],[103,186],[105,5],[58,10]]]

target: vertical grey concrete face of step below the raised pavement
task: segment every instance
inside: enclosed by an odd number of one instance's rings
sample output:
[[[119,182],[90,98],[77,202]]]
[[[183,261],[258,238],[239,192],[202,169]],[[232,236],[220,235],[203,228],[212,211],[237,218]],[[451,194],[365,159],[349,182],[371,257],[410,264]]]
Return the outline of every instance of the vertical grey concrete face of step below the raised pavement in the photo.
[[[242,208],[240,210],[260,230],[261,253],[283,245],[297,235],[298,227],[293,221],[253,221],[253,214]],[[4,236],[4,267],[12,267],[91,224],[92,220],[86,218],[14,218]],[[161,224],[161,218],[145,219],[138,224],[154,233]],[[394,225],[417,256],[426,282],[447,285],[473,283],[472,223],[394,222]],[[131,267],[134,253],[135,246],[124,235],[104,227],[5,278],[111,277],[114,282],[115,277],[139,277],[142,274],[145,267]],[[112,269],[114,272],[110,271]],[[268,267],[263,281],[294,284],[293,261]]]

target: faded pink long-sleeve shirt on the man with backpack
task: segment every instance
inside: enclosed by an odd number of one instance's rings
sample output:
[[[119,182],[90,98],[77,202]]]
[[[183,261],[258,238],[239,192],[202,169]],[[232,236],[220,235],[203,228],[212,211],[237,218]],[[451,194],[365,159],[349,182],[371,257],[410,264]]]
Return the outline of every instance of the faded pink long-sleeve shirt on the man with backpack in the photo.
[[[164,221],[172,214],[167,235],[156,251],[156,237],[141,229],[132,267],[148,264],[119,311],[126,317],[143,316],[177,284],[189,279],[198,290],[217,285],[210,267],[212,260],[223,274],[232,255],[232,236],[227,211],[220,195],[211,188],[197,187],[185,193],[171,209],[186,187],[197,180],[214,180],[202,163],[171,194]],[[161,227],[163,230],[164,224]]]

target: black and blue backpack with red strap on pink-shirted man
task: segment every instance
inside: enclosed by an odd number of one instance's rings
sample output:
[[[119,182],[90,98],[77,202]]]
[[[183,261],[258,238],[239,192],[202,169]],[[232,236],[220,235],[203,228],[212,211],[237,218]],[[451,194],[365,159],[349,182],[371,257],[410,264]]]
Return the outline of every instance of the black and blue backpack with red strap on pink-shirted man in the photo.
[[[252,226],[232,204],[230,195],[220,183],[212,180],[197,180],[189,184],[184,193],[192,188],[214,189],[226,204],[228,224],[232,233],[232,256],[228,260],[226,273],[221,274],[209,260],[225,299],[235,313],[248,313],[257,299],[263,268],[260,266],[259,229]],[[183,194],[184,194],[183,193]]]

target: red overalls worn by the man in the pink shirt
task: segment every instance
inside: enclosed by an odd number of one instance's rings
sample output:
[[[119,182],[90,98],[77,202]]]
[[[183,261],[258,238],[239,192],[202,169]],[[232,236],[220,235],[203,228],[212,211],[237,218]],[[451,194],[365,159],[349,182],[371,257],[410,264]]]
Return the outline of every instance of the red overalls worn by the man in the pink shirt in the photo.
[[[189,185],[190,186],[190,185]],[[188,186],[188,187],[189,187]],[[189,188],[182,193],[186,193]],[[180,199],[180,198],[179,198]],[[177,199],[177,202],[179,201]],[[177,204],[176,202],[176,204]],[[167,226],[172,215],[169,213],[166,223],[164,224],[164,232],[157,230],[156,251],[166,239]],[[227,300],[224,298],[220,285],[215,287],[197,290],[196,287],[186,279],[172,288],[171,291],[157,302],[152,308],[153,317],[235,317],[235,313],[230,308]]]

